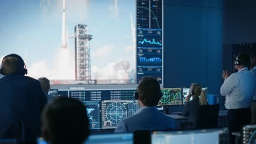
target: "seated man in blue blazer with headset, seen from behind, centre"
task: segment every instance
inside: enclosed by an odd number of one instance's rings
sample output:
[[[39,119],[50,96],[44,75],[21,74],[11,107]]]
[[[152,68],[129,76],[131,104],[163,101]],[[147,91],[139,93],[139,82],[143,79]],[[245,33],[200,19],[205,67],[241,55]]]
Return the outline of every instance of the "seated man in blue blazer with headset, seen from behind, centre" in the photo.
[[[137,93],[137,94],[136,94]],[[115,133],[132,133],[135,130],[174,129],[174,119],[156,109],[162,94],[160,85],[152,77],[143,77],[139,82],[135,98],[140,109],[135,115],[122,119]],[[136,96],[137,95],[137,96]]]

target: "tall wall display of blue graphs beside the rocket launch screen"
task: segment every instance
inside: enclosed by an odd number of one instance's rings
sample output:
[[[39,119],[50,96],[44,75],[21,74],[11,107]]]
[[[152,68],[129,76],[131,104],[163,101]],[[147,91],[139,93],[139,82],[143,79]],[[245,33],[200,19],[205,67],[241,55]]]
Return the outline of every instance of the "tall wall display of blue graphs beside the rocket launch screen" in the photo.
[[[137,0],[137,83],[152,76],[162,84],[162,1]]]

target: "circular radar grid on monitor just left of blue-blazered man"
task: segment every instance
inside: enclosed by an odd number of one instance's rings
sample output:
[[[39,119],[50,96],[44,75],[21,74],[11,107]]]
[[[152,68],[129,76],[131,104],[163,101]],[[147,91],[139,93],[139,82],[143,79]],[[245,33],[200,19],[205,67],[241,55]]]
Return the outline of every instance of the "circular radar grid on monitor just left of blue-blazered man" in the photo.
[[[107,107],[106,117],[112,124],[118,124],[119,121],[127,117],[126,107],[121,103],[112,103]]]

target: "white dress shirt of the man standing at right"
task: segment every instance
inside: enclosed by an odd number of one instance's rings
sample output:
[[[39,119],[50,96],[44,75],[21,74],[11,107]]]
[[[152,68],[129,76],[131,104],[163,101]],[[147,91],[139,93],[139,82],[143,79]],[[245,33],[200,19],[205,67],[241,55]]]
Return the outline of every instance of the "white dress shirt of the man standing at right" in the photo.
[[[255,88],[255,76],[248,68],[242,68],[224,80],[220,94],[226,96],[226,109],[241,109],[251,106]]]

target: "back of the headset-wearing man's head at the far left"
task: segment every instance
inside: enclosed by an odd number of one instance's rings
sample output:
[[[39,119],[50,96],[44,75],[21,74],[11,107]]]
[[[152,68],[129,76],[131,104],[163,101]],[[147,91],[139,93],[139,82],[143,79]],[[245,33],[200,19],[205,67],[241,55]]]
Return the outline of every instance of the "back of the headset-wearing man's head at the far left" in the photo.
[[[26,69],[24,69],[24,61],[23,59],[16,54],[10,54],[3,58],[1,74],[21,74],[25,75],[27,73]]]

